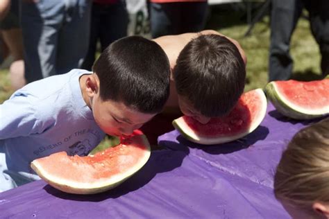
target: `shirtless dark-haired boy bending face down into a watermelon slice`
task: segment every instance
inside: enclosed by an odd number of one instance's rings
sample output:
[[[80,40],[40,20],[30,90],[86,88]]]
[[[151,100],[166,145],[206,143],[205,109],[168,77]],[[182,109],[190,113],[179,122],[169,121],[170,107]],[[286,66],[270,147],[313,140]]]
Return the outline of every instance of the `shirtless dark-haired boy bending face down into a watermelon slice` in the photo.
[[[246,78],[246,55],[237,41],[214,30],[167,35],[154,41],[169,58],[171,85],[165,114],[143,127],[151,142],[156,141],[154,136],[172,130],[171,124],[165,123],[180,116],[178,107],[200,123],[233,109]],[[160,121],[162,126],[155,131],[152,126]]]

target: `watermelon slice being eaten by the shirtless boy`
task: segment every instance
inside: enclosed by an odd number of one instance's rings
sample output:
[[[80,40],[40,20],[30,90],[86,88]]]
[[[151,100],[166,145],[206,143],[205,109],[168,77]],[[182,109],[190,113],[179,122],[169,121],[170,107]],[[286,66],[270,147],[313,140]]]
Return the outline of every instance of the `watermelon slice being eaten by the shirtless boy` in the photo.
[[[264,92],[255,89],[242,94],[228,116],[212,118],[207,124],[181,116],[173,121],[173,125],[189,141],[205,145],[226,143],[253,132],[264,119],[266,109]]]

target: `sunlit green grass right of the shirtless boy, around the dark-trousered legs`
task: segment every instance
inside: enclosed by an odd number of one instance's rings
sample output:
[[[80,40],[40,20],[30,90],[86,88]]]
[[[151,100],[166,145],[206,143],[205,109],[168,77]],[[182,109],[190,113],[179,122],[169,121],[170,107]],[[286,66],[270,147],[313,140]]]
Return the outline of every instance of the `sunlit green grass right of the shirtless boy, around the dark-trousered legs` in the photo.
[[[225,11],[221,11],[225,15]],[[236,13],[228,12],[230,17],[237,17]],[[219,17],[225,22],[223,15]],[[242,18],[239,20],[241,21]],[[239,22],[240,22],[239,21]],[[213,21],[210,22],[214,28]],[[248,59],[246,72],[247,80],[245,91],[256,88],[264,88],[268,80],[268,65],[269,65],[269,40],[271,30],[269,28],[269,16],[264,17],[255,24],[251,35],[245,37],[244,34],[248,30],[248,25],[243,24],[237,26],[219,25],[217,31],[231,37],[241,44],[246,52]],[[298,21],[296,30],[292,35],[291,55],[294,60],[293,78],[303,78],[307,80],[314,78],[314,75],[320,76],[320,59],[319,46],[314,40],[310,31],[310,22],[305,18]]]

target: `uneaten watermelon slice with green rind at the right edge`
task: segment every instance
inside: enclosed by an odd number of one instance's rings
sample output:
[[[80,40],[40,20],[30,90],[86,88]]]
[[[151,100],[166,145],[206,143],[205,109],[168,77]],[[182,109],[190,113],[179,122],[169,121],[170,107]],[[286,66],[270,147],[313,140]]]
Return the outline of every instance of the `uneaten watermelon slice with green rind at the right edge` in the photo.
[[[313,119],[329,113],[329,79],[269,82],[267,96],[278,112],[292,119]]]

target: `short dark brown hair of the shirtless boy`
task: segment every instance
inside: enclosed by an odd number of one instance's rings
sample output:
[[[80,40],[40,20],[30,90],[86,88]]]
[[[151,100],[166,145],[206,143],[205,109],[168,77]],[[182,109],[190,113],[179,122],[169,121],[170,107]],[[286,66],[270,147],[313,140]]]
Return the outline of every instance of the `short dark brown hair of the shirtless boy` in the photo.
[[[178,55],[174,80],[179,95],[203,116],[228,114],[244,91],[246,69],[237,46],[220,35],[200,35]]]

